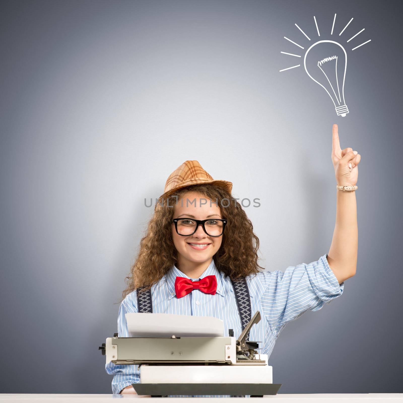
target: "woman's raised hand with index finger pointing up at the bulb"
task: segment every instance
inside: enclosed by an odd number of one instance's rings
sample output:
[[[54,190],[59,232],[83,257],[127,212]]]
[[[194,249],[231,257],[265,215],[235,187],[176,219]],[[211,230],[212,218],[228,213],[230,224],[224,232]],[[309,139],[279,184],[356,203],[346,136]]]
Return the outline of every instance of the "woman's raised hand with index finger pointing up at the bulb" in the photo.
[[[355,186],[358,179],[358,164],[361,156],[351,147],[340,148],[339,129],[333,125],[332,162],[337,185]],[[350,165],[351,164],[351,165]],[[351,168],[350,168],[351,166]]]

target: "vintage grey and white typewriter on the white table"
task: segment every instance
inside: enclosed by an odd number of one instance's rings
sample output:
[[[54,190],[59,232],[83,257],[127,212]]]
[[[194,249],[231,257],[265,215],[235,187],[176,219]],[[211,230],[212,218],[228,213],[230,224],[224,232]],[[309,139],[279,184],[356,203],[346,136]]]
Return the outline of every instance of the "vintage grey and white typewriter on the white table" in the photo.
[[[154,315],[154,314],[150,314]],[[138,395],[276,395],[281,384],[272,383],[267,354],[259,354],[257,341],[247,341],[256,312],[239,339],[233,329],[225,336],[108,337],[98,349],[106,363],[138,364]]]

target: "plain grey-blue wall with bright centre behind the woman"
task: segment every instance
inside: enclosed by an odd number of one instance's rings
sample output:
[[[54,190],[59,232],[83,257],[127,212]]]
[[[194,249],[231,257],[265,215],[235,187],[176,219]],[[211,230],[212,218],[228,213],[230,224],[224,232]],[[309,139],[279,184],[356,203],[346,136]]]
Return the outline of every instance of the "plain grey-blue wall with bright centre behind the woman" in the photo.
[[[260,198],[245,210],[267,270],[327,253],[333,123],[362,156],[357,274],[286,326],[274,382],[403,392],[399,5],[3,0],[0,393],[112,393],[98,346],[117,331],[144,198],[187,159]],[[315,15],[331,39],[335,12],[341,44],[365,28],[346,45],[345,118],[303,67],[279,72],[297,64],[280,51],[301,54],[284,36],[309,43],[294,24],[318,40]]]

